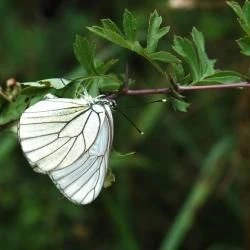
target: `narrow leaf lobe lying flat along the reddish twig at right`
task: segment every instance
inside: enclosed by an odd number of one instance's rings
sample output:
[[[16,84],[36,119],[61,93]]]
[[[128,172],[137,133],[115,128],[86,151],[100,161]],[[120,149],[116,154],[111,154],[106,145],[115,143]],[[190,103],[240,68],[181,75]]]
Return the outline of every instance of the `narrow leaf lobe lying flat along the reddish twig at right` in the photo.
[[[234,71],[216,71],[202,80],[202,83],[236,83],[242,80],[242,76]]]

